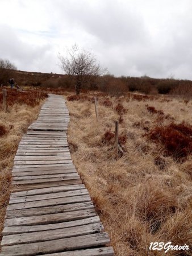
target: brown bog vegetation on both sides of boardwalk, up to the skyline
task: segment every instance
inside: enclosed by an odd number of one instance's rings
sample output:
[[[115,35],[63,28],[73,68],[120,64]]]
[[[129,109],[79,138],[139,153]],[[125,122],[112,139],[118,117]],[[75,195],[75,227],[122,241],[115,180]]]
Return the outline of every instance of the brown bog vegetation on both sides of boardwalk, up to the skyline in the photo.
[[[14,72],[18,85],[30,90],[10,89],[8,110],[0,112],[1,229],[16,147],[37,117],[46,93],[52,92],[67,100],[72,158],[110,235],[115,255],[163,255],[149,251],[150,243],[156,241],[191,245],[191,81],[105,75],[85,83],[76,95],[73,76]],[[114,150],[115,120],[119,121],[123,151],[118,155]]]

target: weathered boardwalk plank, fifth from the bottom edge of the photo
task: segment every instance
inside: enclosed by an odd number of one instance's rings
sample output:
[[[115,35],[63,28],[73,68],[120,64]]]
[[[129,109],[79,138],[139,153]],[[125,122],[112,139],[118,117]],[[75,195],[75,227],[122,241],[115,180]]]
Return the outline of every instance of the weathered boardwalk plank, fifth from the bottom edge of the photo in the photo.
[[[74,212],[44,214],[43,216],[37,215],[30,217],[7,218],[5,220],[4,226],[44,225],[64,221],[80,220],[82,218],[89,218],[94,216],[96,216],[95,210],[86,209]]]

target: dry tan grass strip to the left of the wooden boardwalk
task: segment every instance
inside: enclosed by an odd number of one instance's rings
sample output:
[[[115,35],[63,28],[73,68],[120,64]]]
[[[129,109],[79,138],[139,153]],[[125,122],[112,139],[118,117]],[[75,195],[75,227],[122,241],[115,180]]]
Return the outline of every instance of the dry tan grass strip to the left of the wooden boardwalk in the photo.
[[[14,93],[12,92],[12,94]],[[8,91],[8,98],[11,97],[12,94],[10,94],[11,92]],[[31,92],[23,95],[23,104],[22,93],[20,92],[18,97],[19,103],[16,101],[16,98],[15,100],[12,98],[11,104],[8,101],[7,112],[0,110],[0,240],[6,206],[10,196],[13,159],[22,135],[27,131],[27,127],[37,118],[42,103],[41,99],[44,98],[44,96],[38,97],[35,101]],[[2,102],[0,101],[1,104]]]

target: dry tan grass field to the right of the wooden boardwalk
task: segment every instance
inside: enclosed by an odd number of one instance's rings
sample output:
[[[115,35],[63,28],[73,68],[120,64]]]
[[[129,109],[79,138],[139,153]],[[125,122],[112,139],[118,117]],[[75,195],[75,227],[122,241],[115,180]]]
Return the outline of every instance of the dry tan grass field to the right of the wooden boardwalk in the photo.
[[[68,141],[115,255],[164,255],[149,251],[149,244],[155,241],[191,245],[191,155],[180,162],[165,155],[162,142],[145,136],[155,127],[191,123],[191,101],[186,104],[130,94],[109,101],[101,95],[97,123],[94,104],[84,99],[67,102]],[[154,109],[147,109],[146,104]],[[119,133],[125,154],[116,159],[112,146],[114,121],[118,119],[122,120]],[[192,251],[169,251],[166,255],[192,255]]]

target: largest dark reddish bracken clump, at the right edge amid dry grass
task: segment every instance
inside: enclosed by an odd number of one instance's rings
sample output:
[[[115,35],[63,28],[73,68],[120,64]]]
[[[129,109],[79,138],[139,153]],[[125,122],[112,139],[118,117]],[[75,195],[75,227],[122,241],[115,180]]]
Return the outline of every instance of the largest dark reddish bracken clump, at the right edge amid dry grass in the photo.
[[[172,155],[175,159],[186,158],[192,152],[192,138],[189,127],[184,124],[155,127],[148,134],[148,137],[156,143],[165,146],[166,155]],[[177,129],[176,129],[177,128]],[[180,129],[180,130],[179,130]],[[187,135],[186,135],[187,134]]]

